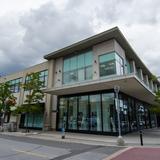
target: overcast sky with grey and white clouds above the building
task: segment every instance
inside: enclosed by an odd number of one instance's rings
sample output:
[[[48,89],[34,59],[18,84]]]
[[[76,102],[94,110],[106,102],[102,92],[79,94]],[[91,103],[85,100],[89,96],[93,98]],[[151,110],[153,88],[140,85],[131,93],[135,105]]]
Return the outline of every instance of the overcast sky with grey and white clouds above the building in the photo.
[[[0,74],[115,26],[160,75],[159,0],[0,0]]]

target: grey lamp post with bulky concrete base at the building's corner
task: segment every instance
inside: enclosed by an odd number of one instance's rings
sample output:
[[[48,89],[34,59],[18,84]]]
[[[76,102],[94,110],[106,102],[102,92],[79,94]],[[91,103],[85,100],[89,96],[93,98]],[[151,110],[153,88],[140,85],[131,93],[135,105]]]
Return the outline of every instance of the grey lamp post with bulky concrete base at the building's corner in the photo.
[[[117,110],[117,119],[118,119],[118,139],[117,139],[117,144],[119,146],[124,146],[125,142],[123,137],[121,136],[121,121],[120,121],[120,107],[119,107],[119,99],[118,99],[118,94],[119,94],[120,86],[115,85],[114,86],[114,92],[116,94],[116,110]]]

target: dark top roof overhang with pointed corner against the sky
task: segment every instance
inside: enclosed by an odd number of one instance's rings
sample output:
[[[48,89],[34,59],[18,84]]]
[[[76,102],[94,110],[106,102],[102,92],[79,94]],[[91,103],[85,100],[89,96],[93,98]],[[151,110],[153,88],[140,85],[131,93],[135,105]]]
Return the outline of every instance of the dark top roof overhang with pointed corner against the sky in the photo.
[[[84,39],[82,41],[74,43],[60,50],[54,51],[50,54],[45,55],[44,58],[47,60],[50,60],[50,59],[55,59],[58,57],[66,56],[71,53],[77,53],[84,49],[91,48],[92,46],[98,43],[102,43],[104,41],[108,41],[111,39],[115,39],[121,45],[121,47],[125,50],[126,57],[129,60],[136,61],[136,66],[138,68],[141,68],[143,70],[143,73],[148,75],[150,79],[152,78],[153,76],[152,73],[149,71],[149,69],[144,65],[144,63],[137,56],[137,54],[135,53],[133,48],[130,46],[130,44],[128,43],[126,38],[123,36],[122,32],[119,30],[118,27],[114,27],[110,30],[107,30],[105,32],[102,32],[92,37],[89,37],[87,39]]]

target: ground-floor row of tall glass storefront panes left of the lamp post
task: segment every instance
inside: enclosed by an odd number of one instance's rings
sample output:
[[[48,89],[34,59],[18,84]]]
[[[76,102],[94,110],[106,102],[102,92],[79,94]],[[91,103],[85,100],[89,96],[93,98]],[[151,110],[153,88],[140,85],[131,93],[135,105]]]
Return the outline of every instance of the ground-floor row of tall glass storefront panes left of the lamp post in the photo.
[[[84,132],[116,132],[114,93],[59,98],[58,129]]]

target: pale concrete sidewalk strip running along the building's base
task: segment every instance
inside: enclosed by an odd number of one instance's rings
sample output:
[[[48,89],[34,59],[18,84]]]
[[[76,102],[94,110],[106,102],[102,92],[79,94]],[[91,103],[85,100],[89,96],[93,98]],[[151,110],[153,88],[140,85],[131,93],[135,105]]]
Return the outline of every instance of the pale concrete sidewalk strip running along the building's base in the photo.
[[[30,137],[44,140],[63,141],[70,143],[83,143],[91,145],[116,146],[117,137],[106,135],[93,135],[82,133],[69,133],[65,135],[65,139],[61,139],[61,132],[57,131],[31,131],[30,133],[22,132],[0,132],[0,135]],[[144,130],[143,142],[144,146],[160,147],[160,129]],[[130,133],[123,136],[126,146],[140,146],[139,132]]]

